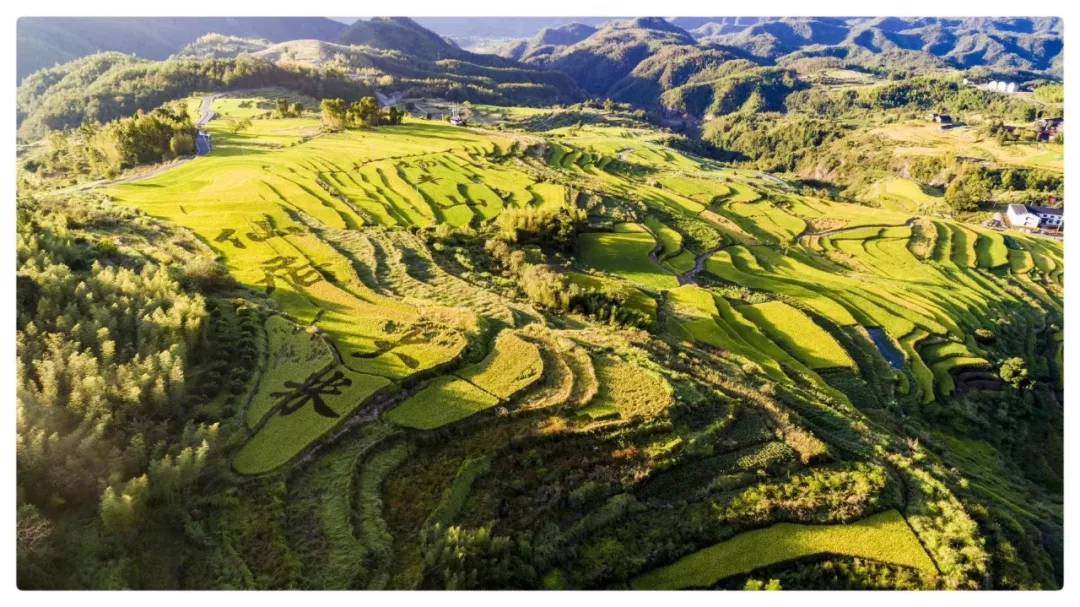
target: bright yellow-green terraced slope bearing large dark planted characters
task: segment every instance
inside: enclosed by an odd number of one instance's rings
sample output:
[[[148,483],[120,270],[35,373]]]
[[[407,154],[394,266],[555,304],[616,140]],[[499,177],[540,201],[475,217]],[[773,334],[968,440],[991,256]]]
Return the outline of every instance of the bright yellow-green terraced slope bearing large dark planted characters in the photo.
[[[230,131],[229,117],[254,116],[265,105],[217,99],[212,156],[108,190],[119,204],[194,231],[238,281],[318,328],[336,352],[316,352],[315,338],[283,328],[278,316],[269,321],[267,363],[278,373],[260,381],[248,405],[255,435],[235,461],[247,473],[291,460],[393,383],[451,363],[476,331],[467,308],[382,295],[383,285],[357,274],[353,252],[329,244],[332,234],[465,225],[490,220],[504,206],[565,202],[564,186],[500,161],[502,151],[525,145],[519,136],[434,123],[320,135],[314,118],[254,120],[248,131]],[[320,402],[325,406],[313,407]],[[288,410],[289,403],[299,410]]]

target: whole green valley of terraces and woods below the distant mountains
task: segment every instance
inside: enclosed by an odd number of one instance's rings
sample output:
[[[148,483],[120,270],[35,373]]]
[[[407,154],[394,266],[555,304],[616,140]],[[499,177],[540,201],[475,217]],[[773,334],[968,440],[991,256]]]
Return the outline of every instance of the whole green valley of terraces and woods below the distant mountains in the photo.
[[[372,86],[326,45],[418,35],[357,23],[21,89],[21,588],[1061,588],[1064,242],[991,220],[1064,188],[1027,102],[719,67],[647,87],[673,132],[434,35],[457,84]],[[881,100],[923,87],[970,124]]]

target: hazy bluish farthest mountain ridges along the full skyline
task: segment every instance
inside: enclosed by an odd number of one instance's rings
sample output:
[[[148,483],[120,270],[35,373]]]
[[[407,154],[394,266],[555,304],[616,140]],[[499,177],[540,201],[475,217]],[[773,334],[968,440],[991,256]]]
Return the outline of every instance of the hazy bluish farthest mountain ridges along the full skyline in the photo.
[[[1063,24],[1056,17],[424,17],[411,23],[431,38],[509,40],[499,54],[556,67],[576,63],[566,56],[581,58],[596,49],[610,57],[612,51],[604,49],[609,43],[630,53],[620,62],[629,66],[648,54],[634,39],[651,45],[731,46],[773,63],[793,53],[858,57],[906,52],[923,56],[927,65],[1061,76],[1064,62]],[[99,51],[163,59],[206,33],[396,45],[384,38],[392,31],[370,24],[357,19],[350,26],[324,17],[23,17],[16,31],[17,77]],[[607,65],[597,62],[596,67]]]

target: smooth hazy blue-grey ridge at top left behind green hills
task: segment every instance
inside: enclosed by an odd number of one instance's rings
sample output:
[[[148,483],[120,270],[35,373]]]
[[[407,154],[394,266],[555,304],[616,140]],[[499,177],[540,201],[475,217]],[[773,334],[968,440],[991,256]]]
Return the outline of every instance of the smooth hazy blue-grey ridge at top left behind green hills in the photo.
[[[273,42],[337,40],[348,26],[324,17],[23,17],[15,33],[18,80],[100,51],[164,59],[204,33]]]

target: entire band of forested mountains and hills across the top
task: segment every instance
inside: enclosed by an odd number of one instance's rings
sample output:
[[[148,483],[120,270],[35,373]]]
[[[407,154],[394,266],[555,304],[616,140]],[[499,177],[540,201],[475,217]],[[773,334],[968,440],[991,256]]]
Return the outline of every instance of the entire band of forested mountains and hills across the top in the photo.
[[[21,79],[32,76],[18,92],[21,133],[39,135],[150,109],[144,106],[191,94],[195,84],[237,87],[241,81],[230,73],[238,66],[204,62],[241,57],[261,62],[240,69],[245,85],[294,82],[316,94],[379,90],[534,106],[611,98],[693,119],[782,110],[787,95],[806,85],[799,69],[807,60],[881,75],[988,68],[1022,80],[1059,77],[1064,62],[1062,21],[1054,17],[565,21],[531,19],[540,27],[534,36],[478,53],[444,31],[472,38],[486,31],[502,39],[521,31],[514,29],[521,24],[428,19],[444,28],[435,31],[406,17],[351,25],[321,17],[23,18],[18,71]],[[103,51],[112,53],[81,58]],[[153,65],[165,58],[174,62]],[[71,63],[45,68],[64,62]],[[179,79],[180,72],[189,80]],[[63,98],[48,98],[58,91]]]

